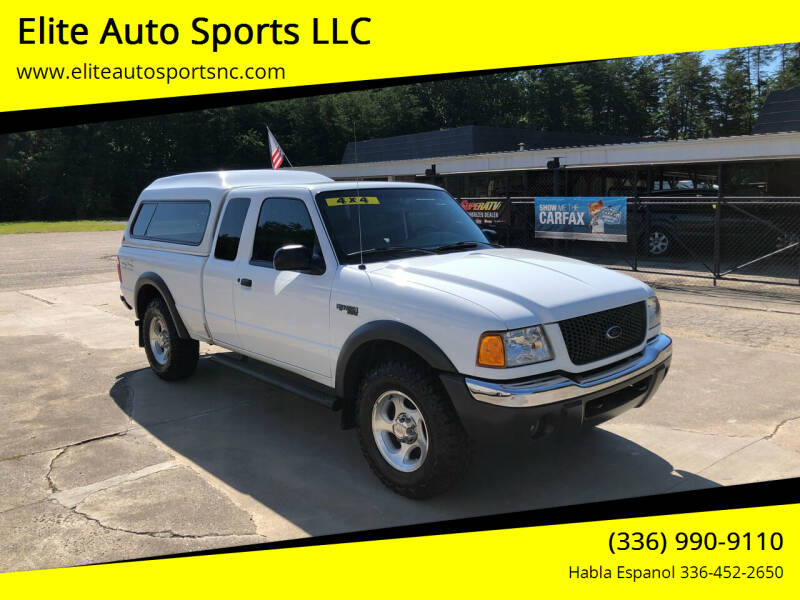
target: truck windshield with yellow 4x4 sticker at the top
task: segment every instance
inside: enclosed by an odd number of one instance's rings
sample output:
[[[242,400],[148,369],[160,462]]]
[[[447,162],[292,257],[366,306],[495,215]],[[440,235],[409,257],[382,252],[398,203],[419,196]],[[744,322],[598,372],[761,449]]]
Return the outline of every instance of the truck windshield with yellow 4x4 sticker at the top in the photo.
[[[443,190],[336,190],[318,194],[317,204],[342,264],[360,260],[359,211],[364,262],[491,245]]]

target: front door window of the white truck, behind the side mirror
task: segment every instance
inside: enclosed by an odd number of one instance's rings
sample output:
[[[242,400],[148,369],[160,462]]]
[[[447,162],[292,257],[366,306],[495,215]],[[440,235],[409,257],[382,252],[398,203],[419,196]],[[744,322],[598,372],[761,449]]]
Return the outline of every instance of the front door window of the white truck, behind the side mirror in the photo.
[[[267,198],[261,205],[253,241],[254,263],[272,264],[275,250],[300,244],[319,259],[319,245],[308,209],[297,198]]]

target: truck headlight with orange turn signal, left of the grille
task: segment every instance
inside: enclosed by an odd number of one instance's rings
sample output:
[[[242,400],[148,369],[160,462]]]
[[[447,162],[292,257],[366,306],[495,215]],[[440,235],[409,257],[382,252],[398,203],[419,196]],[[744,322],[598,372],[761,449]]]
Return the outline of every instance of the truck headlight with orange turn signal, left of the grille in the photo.
[[[519,367],[553,358],[547,336],[540,326],[484,333],[478,343],[481,367]]]

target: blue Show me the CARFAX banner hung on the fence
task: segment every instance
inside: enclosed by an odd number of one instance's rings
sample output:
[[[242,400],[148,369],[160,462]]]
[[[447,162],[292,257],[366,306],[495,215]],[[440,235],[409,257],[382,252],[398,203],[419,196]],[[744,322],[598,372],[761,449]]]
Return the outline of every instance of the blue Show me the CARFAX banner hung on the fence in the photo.
[[[536,237],[625,242],[627,209],[624,196],[536,198]]]

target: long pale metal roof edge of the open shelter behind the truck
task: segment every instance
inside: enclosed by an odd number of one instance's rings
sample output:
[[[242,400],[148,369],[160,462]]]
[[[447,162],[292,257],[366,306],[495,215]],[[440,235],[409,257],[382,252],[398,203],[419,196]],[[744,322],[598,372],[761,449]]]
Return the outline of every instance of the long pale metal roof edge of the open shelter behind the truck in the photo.
[[[639,142],[601,146],[440,156],[384,162],[305,167],[334,179],[423,175],[436,164],[437,175],[544,170],[559,156],[569,168],[800,159],[800,131],[724,138]]]

